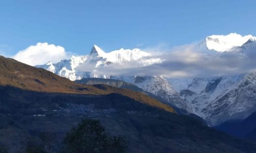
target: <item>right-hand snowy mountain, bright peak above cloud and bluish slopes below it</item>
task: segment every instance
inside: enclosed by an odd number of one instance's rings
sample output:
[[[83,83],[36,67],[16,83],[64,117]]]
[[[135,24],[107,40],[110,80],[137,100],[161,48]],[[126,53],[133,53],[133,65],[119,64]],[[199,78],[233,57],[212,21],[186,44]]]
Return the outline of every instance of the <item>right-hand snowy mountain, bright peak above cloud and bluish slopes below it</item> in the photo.
[[[207,37],[199,46],[217,52],[237,52],[246,56],[254,56],[256,37],[229,34]],[[233,42],[232,42],[233,41]],[[169,79],[174,89],[191,107],[193,112],[201,116],[209,125],[218,125],[226,120],[244,119],[255,111],[256,95],[253,81],[255,73],[239,74],[215,78]]]

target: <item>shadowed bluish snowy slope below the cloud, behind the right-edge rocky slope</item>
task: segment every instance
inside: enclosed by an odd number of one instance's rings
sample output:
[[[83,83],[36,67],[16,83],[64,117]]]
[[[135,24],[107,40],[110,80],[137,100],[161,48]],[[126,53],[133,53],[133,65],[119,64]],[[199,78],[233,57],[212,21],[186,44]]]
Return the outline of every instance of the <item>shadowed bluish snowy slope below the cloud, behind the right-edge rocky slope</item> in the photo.
[[[244,75],[207,79],[195,78],[187,84],[186,88],[180,90],[179,94],[195,114],[205,118],[203,109],[233,89],[243,77]]]

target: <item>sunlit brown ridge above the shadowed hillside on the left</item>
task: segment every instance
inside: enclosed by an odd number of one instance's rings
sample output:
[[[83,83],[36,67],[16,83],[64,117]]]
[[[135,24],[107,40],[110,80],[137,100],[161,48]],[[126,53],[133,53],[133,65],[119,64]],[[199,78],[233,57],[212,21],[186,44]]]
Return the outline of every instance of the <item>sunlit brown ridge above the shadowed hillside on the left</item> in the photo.
[[[141,103],[175,112],[168,105],[160,101],[129,89],[114,88],[102,85],[100,88],[91,85],[81,85],[69,79],[33,66],[18,62],[16,60],[0,56],[0,85],[10,85],[24,90],[48,93],[73,93],[73,94],[110,94],[119,93],[134,98]]]

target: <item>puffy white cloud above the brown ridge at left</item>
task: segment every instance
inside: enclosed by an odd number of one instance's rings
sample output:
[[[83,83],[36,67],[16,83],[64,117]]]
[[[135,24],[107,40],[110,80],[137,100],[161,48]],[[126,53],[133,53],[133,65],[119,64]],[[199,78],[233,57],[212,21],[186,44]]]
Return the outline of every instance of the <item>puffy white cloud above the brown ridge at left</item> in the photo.
[[[36,45],[31,45],[24,50],[20,50],[12,58],[19,62],[35,66],[45,64],[49,61],[56,63],[59,60],[66,59],[68,57],[68,53],[62,46],[48,44],[47,42],[38,42]]]

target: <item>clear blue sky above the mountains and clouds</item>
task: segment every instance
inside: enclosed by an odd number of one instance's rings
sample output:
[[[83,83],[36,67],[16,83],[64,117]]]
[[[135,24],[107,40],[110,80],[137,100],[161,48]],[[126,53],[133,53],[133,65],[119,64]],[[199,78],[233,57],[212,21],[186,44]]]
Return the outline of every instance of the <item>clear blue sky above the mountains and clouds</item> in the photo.
[[[172,47],[212,34],[256,35],[255,26],[255,0],[0,1],[0,51],[8,55],[37,42],[80,55],[93,44],[106,52]]]

